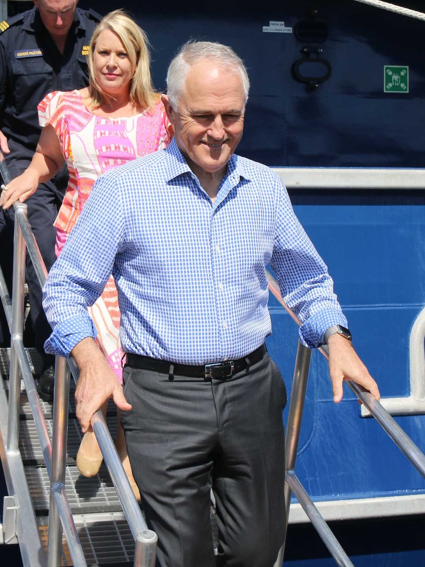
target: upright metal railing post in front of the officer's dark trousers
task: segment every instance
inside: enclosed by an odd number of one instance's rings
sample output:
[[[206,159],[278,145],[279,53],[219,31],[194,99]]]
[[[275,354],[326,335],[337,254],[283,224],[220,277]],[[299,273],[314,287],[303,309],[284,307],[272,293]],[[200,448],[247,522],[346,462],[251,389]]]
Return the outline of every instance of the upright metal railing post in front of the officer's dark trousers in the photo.
[[[19,208],[27,205],[19,203]],[[16,221],[16,218],[15,218]],[[9,374],[9,414],[7,424],[7,451],[19,450],[20,370],[15,340],[22,342],[24,331],[25,242],[19,222],[15,222],[13,247],[12,324]]]

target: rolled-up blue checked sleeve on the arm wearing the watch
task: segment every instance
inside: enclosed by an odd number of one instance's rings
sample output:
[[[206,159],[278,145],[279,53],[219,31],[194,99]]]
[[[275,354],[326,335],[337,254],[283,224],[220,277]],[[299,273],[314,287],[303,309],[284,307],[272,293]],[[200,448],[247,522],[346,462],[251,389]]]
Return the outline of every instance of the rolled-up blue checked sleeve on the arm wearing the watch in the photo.
[[[299,336],[309,348],[323,344],[332,325],[347,326],[334,293],[328,267],[308,238],[292,208],[284,185],[278,187],[275,242],[271,266],[283,301],[300,319]]]

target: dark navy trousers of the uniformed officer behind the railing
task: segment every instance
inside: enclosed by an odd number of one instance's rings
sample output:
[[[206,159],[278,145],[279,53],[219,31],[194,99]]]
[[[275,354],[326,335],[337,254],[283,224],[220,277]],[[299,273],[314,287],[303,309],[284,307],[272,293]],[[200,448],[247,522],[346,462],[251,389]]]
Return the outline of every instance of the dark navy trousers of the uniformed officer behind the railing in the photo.
[[[11,154],[6,156],[8,171],[12,179],[23,173],[31,162],[28,159],[11,159],[14,153],[13,143],[9,144]],[[18,146],[19,147],[19,146]],[[53,226],[58,214],[58,208],[62,204],[67,183],[67,173],[63,170],[56,178],[48,183],[40,184],[39,188],[25,204],[27,205],[28,221],[34,233],[37,244],[40,248],[42,259],[49,271],[56,254],[54,246],[56,243],[56,229]],[[2,210],[0,214],[0,266],[5,276],[6,284],[11,292],[12,285],[12,258],[13,258],[13,238],[14,238],[15,210],[13,207]],[[29,289],[30,316],[34,335],[34,346],[40,356],[45,361],[44,366],[54,363],[54,357],[47,357],[44,353],[44,342],[50,336],[52,329],[47,322],[42,308],[42,291],[32,265],[29,254],[27,253],[27,283]],[[7,332],[2,325],[2,342],[7,342]],[[4,336],[6,335],[6,337]],[[10,339],[9,339],[10,340]]]

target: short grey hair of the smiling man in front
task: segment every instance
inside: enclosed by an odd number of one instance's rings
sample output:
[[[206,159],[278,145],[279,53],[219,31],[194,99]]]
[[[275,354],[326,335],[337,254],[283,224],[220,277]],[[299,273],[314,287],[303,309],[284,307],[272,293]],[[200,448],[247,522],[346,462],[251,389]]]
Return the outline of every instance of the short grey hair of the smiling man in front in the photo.
[[[179,53],[173,58],[167,71],[167,95],[172,107],[176,110],[184,88],[189,69],[202,59],[214,60],[226,71],[239,73],[245,104],[249,94],[249,78],[244,62],[231,47],[213,41],[190,40],[181,46]]]

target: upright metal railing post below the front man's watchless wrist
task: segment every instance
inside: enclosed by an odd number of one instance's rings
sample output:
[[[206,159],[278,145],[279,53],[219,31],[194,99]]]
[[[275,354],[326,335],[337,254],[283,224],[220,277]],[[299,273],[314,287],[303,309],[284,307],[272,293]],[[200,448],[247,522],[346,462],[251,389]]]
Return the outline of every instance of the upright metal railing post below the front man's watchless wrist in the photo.
[[[70,370],[66,358],[56,357],[53,396],[52,477],[50,486],[65,488],[66,445],[68,435]],[[47,546],[48,567],[61,564],[62,524],[56,501],[50,490],[49,539]]]

